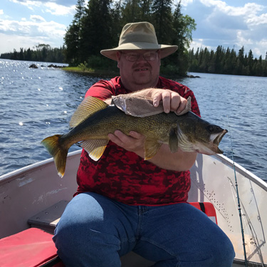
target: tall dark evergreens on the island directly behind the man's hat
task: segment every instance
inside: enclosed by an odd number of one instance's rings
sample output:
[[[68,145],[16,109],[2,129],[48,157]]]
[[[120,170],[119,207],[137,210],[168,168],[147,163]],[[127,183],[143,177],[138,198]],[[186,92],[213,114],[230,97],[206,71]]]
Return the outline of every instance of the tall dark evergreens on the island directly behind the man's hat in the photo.
[[[173,0],[78,0],[75,15],[64,38],[66,62],[90,68],[116,68],[100,51],[117,46],[126,23],[148,21],[155,26],[158,43],[178,45],[177,53],[162,61],[165,72],[187,73],[187,49],[196,28],[194,19],[181,12]]]

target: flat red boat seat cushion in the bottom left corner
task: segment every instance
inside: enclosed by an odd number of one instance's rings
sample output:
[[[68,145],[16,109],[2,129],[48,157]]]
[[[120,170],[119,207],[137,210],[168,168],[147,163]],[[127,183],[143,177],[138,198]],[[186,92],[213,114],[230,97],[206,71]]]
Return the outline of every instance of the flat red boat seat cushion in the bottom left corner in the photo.
[[[41,229],[30,228],[0,239],[0,266],[38,267],[50,262],[57,257],[52,236]],[[49,266],[61,267],[63,263]]]

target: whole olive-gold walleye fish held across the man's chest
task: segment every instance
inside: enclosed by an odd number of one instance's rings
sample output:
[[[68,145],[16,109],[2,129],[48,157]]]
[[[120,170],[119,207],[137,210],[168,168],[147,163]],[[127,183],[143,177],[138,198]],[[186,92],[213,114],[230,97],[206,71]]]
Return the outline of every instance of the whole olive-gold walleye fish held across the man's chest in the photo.
[[[218,146],[227,130],[206,122],[191,111],[183,115],[165,113],[162,103],[155,108],[151,98],[129,95],[117,95],[112,98],[111,105],[88,96],[71,117],[68,133],[53,135],[41,141],[53,156],[60,177],[64,175],[71,145],[79,142],[96,161],[108,145],[108,134],[115,130],[126,135],[130,131],[145,135],[144,159],[154,157],[162,144],[168,144],[173,153],[177,152],[178,147],[186,152],[206,155],[223,153]],[[136,103],[140,108],[136,109]],[[190,107],[187,108],[190,110]],[[140,110],[141,115],[136,114]]]

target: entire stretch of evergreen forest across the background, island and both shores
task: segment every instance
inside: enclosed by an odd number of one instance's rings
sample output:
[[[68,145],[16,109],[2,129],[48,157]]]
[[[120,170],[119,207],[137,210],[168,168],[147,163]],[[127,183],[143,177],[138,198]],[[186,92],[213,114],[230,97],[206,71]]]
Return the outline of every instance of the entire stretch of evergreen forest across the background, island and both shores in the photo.
[[[189,49],[197,24],[182,14],[181,1],[174,5],[174,0],[89,0],[86,5],[85,0],[78,0],[63,47],[40,44],[34,49],[2,53],[0,58],[68,63],[83,70],[117,70],[116,62],[101,56],[100,50],[116,47],[122,27],[137,21],[155,26],[158,43],[178,46],[176,53],[162,60],[164,75],[185,76],[190,71],[267,76],[267,52],[263,59],[253,58],[252,51],[245,54],[244,47],[238,53],[222,46],[216,51]]]

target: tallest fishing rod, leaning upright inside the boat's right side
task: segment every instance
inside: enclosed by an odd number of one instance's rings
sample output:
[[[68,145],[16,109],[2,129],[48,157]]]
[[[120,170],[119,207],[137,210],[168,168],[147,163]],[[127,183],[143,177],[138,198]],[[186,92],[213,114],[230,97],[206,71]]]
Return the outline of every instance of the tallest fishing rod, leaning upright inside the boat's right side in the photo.
[[[236,178],[236,164],[234,162],[234,148],[233,148],[233,143],[232,143],[232,136],[231,136],[231,127],[229,124],[229,117],[227,116],[228,120],[228,126],[229,126],[229,135],[230,135],[230,143],[231,143],[231,156],[233,160],[233,167],[234,167],[234,179],[236,183],[236,197],[237,197],[237,206],[239,209],[239,219],[240,219],[240,226],[241,226],[241,234],[242,234],[242,242],[243,242],[243,250],[244,250],[244,259],[245,259],[245,266],[248,266],[248,260],[246,258],[246,243],[245,243],[245,235],[244,235],[244,227],[243,227],[243,221],[242,221],[242,213],[241,213],[241,205],[240,205],[240,199],[239,199],[239,186],[237,183],[237,178]]]

